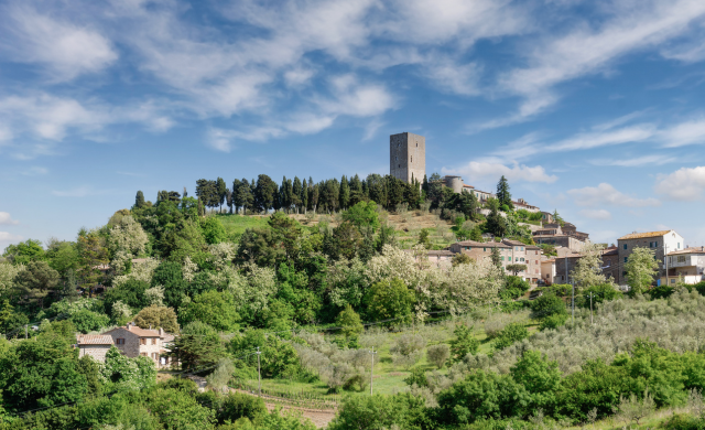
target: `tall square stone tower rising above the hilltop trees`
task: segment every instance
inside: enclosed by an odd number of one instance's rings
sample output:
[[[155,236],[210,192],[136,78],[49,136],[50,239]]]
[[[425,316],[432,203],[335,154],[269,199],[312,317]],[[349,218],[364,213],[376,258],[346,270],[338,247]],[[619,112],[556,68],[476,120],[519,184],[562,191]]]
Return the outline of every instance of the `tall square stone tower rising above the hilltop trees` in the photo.
[[[403,132],[389,137],[389,174],[406,183],[423,182],[426,174],[426,138]]]

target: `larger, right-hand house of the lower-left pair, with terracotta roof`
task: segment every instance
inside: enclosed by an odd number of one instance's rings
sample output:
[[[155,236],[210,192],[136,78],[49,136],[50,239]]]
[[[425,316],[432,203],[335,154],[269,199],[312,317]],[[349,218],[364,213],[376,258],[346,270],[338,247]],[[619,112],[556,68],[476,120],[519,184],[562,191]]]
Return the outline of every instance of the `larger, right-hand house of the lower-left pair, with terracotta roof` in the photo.
[[[145,330],[129,323],[124,327],[112,329],[104,334],[110,336],[115,346],[128,357],[150,357],[158,367],[169,364],[166,359],[162,359],[166,358],[162,357],[162,354],[166,352],[165,344],[173,341],[174,336],[161,327]]]

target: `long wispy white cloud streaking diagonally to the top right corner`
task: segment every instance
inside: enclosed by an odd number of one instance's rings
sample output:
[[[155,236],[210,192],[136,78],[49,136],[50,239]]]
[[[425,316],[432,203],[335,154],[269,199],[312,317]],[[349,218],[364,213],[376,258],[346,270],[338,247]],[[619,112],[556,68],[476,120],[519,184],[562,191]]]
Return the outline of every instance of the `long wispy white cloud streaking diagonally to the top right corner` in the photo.
[[[625,0],[603,8],[603,12],[609,18],[599,28],[578,23],[562,36],[547,36],[543,43],[533,39],[528,42],[529,66],[510,71],[499,79],[503,90],[524,97],[509,123],[553,105],[558,98],[554,90],[557,84],[606,72],[630,52],[657,46],[686,32],[691,22],[705,14],[705,2]]]

